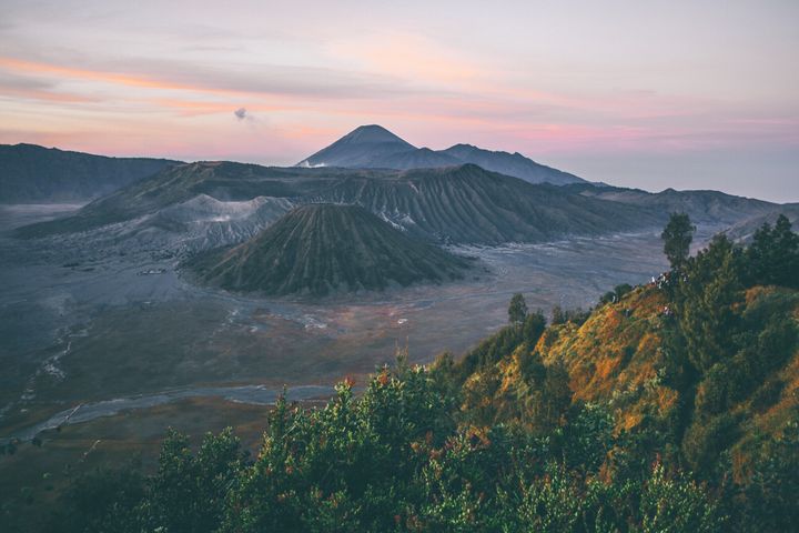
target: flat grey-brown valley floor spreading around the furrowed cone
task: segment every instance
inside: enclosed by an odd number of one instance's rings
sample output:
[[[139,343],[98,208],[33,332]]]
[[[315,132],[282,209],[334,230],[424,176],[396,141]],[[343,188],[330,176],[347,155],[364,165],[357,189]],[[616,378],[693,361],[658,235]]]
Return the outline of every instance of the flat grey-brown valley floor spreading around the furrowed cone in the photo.
[[[95,415],[72,422],[118,413],[119,402],[224,396],[215,388],[326,388],[392,362],[397,346],[428,362],[502,326],[515,292],[532,309],[587,308],[666,268],[653,231],[453,249],[482,265],[458,283],[322,301],[245,298],[186,282],[168,254],[8,237],[70,209],[0,208],[0,438],[29,436],[78,405]]]

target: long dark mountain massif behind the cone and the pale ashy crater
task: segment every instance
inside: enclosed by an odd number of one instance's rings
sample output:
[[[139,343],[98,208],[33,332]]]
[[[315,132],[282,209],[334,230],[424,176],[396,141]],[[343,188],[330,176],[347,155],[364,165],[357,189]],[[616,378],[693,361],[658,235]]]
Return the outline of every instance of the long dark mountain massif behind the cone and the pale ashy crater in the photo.
[[[416,235],[453,243],[542,242],[651,228],[665,220],[665,214],[533,185],[473,164],[395,171],[202,162],[165,169],[73,217],[21,228],[18,235],[98,229],[152,217],[202,194],[220,201],[353,203]]]

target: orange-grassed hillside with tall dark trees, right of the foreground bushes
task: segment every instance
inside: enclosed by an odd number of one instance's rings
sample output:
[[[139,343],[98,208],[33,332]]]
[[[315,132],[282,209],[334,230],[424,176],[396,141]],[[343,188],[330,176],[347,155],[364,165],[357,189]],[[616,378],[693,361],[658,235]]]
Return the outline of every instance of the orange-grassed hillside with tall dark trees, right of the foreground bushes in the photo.
[[[439,366],[475,422],[556,426],[563,396],[558,408],[540,391],[560,380],[566,405],[605,405],[615,432],[747,484],[799,422],[797,269],[799,235],[785,218],[747,249],[720,234],[657,283],[620,285],[589,313],[558,310],[548,328],[529,314]]]

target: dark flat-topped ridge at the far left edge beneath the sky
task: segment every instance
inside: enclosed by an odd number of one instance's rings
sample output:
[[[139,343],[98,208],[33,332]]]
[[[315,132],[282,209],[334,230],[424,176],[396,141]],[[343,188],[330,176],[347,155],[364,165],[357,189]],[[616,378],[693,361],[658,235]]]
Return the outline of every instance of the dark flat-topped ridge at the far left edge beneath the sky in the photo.
[[[99,198],[179,161],[107,158],[34,144],[0,145],[0,203]]]

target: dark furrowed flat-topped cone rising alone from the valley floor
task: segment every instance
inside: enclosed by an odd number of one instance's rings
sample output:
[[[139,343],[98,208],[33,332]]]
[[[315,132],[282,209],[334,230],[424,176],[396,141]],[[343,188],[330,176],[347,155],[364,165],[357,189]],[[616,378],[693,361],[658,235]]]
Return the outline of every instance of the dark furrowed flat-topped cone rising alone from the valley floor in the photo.
[[[406,237],[356,205],[297,208],[253,239],[186,263],[236,292],[324,295],[463,278],[468,262]]]

